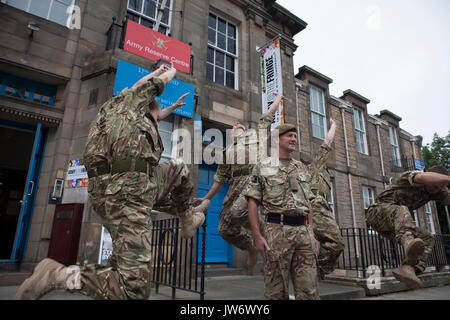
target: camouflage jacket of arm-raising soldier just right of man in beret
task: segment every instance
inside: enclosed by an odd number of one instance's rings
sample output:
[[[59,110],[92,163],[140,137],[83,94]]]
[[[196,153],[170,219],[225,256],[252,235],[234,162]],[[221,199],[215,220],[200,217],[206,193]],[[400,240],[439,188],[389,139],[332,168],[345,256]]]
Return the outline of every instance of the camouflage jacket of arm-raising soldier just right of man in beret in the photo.
[[[311,173],[311,191],[314,194],[319,193],[324,199],[328,199],[331,189],[330,173],[326,166],[330,151],[331,147],[322,143],[313,162],[308,166]]]

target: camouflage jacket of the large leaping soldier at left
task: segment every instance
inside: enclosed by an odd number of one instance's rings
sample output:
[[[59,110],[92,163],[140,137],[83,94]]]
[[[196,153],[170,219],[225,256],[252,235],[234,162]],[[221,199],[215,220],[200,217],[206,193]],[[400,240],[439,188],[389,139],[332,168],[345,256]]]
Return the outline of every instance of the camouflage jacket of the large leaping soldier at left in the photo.
[[[164,147],[158,124],[147,106],[163,91],[164,82],[151,78],[140,86],[124,89],[102,105],[89,130],[84,152],[88,170],[130,158],[158,164]]]

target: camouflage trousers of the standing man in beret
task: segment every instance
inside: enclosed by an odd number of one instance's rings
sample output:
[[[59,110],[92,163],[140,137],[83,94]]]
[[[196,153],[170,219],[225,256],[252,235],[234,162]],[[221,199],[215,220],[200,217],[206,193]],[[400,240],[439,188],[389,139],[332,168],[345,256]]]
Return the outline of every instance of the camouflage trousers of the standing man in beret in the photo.
[[[296,300],[319,300],[316,256],[306,226],[264,223],[270,251],[264,264],[264,298],[288,300],[289,280]]]

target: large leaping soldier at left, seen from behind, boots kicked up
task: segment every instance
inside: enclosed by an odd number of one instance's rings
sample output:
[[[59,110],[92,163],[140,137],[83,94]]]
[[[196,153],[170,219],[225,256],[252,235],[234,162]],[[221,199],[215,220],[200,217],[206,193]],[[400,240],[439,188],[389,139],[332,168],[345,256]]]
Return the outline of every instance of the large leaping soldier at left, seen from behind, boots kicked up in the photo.
[[[204,221],[209,202],[190,206],[193,186],[186,165],[178,160],[158,166],[163,145],[158,122],[183,104],[161,110],[155,100],[176,70],[162,66],[100,109],[84,155],[89,193],[113,240],[107,266],[65,267],[44,259],[19,288],[16,299],[38,299],[52,289],[78,290],[95,299],[147,299],[151,280],[151,210],[174,204],[169,213],[191,237]]]

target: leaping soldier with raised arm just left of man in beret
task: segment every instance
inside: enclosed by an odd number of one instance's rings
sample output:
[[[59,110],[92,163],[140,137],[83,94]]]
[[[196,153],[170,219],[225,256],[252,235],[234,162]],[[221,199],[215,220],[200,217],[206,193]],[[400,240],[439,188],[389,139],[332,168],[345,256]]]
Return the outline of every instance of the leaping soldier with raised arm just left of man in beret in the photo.
[[[275,93],[275,99],[269,106],[256,130],[246,130],[246,128],[236,123],[233,127],[233,144],[224,151],[225,163],[219,164],[214,176],[214,183],[211,189],[203,198],[197,198],[194,203],[205,199],[211,200],[229,179],[228,193],[223,201],[222,212],[219,220],[219,234],[228,243],[235,245],[241,250],[248,251],[248,269],[253,272],[258,259],[258,252],[253,245],[253,238],[248,220],[247,199],[243,195],[243,190],[250,180],[254,163],[250,161],[250,153],[258,152],[258,141],[261,131],[266,131],[273,123],[273,116],[276,113],[281,99],[284,97]],[[266,135],[267,136],[267,135]],[[263,143],[261,141],[261,143]],[[242,159],[245,157],[245,159]]]

